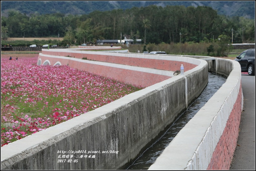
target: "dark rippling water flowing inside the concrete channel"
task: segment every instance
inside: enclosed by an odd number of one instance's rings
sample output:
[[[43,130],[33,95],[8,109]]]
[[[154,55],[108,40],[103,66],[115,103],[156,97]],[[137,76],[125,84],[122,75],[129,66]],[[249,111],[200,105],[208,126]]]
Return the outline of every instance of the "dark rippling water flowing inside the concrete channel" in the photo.
[[[169,129],[151,145],[143,154],[138,157],[127,170],[147,170],[156,160],[162,151],[169,145],[179,131],[188,123],[188,121],[200,110],[201,107],[219,90],[222,84],[226,81],[225,77],[213,73],[208,74],[208,85],[203,90],[201,96],[188,107],[188,109],[178,118]]]

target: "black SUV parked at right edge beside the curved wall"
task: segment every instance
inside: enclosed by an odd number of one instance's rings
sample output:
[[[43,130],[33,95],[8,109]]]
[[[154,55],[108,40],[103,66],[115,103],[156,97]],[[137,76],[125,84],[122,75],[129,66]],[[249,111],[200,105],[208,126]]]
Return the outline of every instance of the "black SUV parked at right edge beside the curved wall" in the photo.
[[[241,65],[242,72],[255,75],[255,49],[247,49],[236,57],[236,61]]]

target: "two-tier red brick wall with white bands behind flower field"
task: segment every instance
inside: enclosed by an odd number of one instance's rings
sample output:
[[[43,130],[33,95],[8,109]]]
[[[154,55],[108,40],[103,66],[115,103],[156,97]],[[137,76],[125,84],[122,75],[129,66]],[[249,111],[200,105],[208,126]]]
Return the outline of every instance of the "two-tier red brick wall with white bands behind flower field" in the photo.
[[[38,64],[47,60],[143,87],[171,78],[181,64],[188,71],[200,63],[188,57],[57,49],[39,54]]]

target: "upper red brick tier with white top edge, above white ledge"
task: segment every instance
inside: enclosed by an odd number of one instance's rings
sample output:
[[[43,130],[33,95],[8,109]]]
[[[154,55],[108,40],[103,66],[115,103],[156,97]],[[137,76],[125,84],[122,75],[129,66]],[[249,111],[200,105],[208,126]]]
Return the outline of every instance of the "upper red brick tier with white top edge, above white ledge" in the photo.
[[[123,64],[129,66],[138,66],[144,68],[153,68],[158,70],[176,71],[180,70],[181,64],[184,65],[184,71],[196,67],[199,63],[196,60],[187,58],[181,60],[180,57],[157,54],[139,54],[139,53],[113,53],[113,52],[90,52],[81,50],[43,50],[42,55],[51,56],[69,56],[74,58],[86,58],[87,60],[101,61],[112,64]],[[181,63],[183,62],[183,63]]]

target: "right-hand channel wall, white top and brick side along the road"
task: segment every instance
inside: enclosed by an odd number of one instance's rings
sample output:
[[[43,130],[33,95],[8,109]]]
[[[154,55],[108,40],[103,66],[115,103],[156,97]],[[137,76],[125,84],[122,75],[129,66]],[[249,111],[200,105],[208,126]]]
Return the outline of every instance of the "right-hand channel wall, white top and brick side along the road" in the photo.
[[[226,83],[172,140],[149,170],[228,170],[236,147],[243,96],[240,64],[213,62]]]

